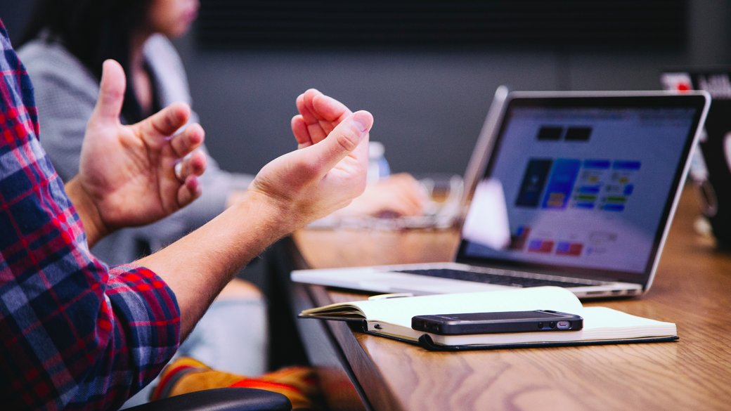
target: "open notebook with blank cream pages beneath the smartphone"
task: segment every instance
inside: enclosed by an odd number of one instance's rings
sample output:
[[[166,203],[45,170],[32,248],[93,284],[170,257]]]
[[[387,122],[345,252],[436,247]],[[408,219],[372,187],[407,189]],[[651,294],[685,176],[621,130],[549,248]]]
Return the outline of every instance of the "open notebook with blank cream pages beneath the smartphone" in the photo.
[[[493,333],[442,336],[411,328],[416,315],[471,312],[506,312],[550,309],[578,314],[584,319],[580,331],[534,333]],[[304,318],[355,320],[363,331],[405,342],[419,343],[431,350],[545,345],[591,345],[633,342],[662,342],[678,339],[675,324],[649,320],[605,307],[583,307],[579,299],[561,287],[534,287],[522,290],[482,293],[426,295],[354,301],[308,309]]]

